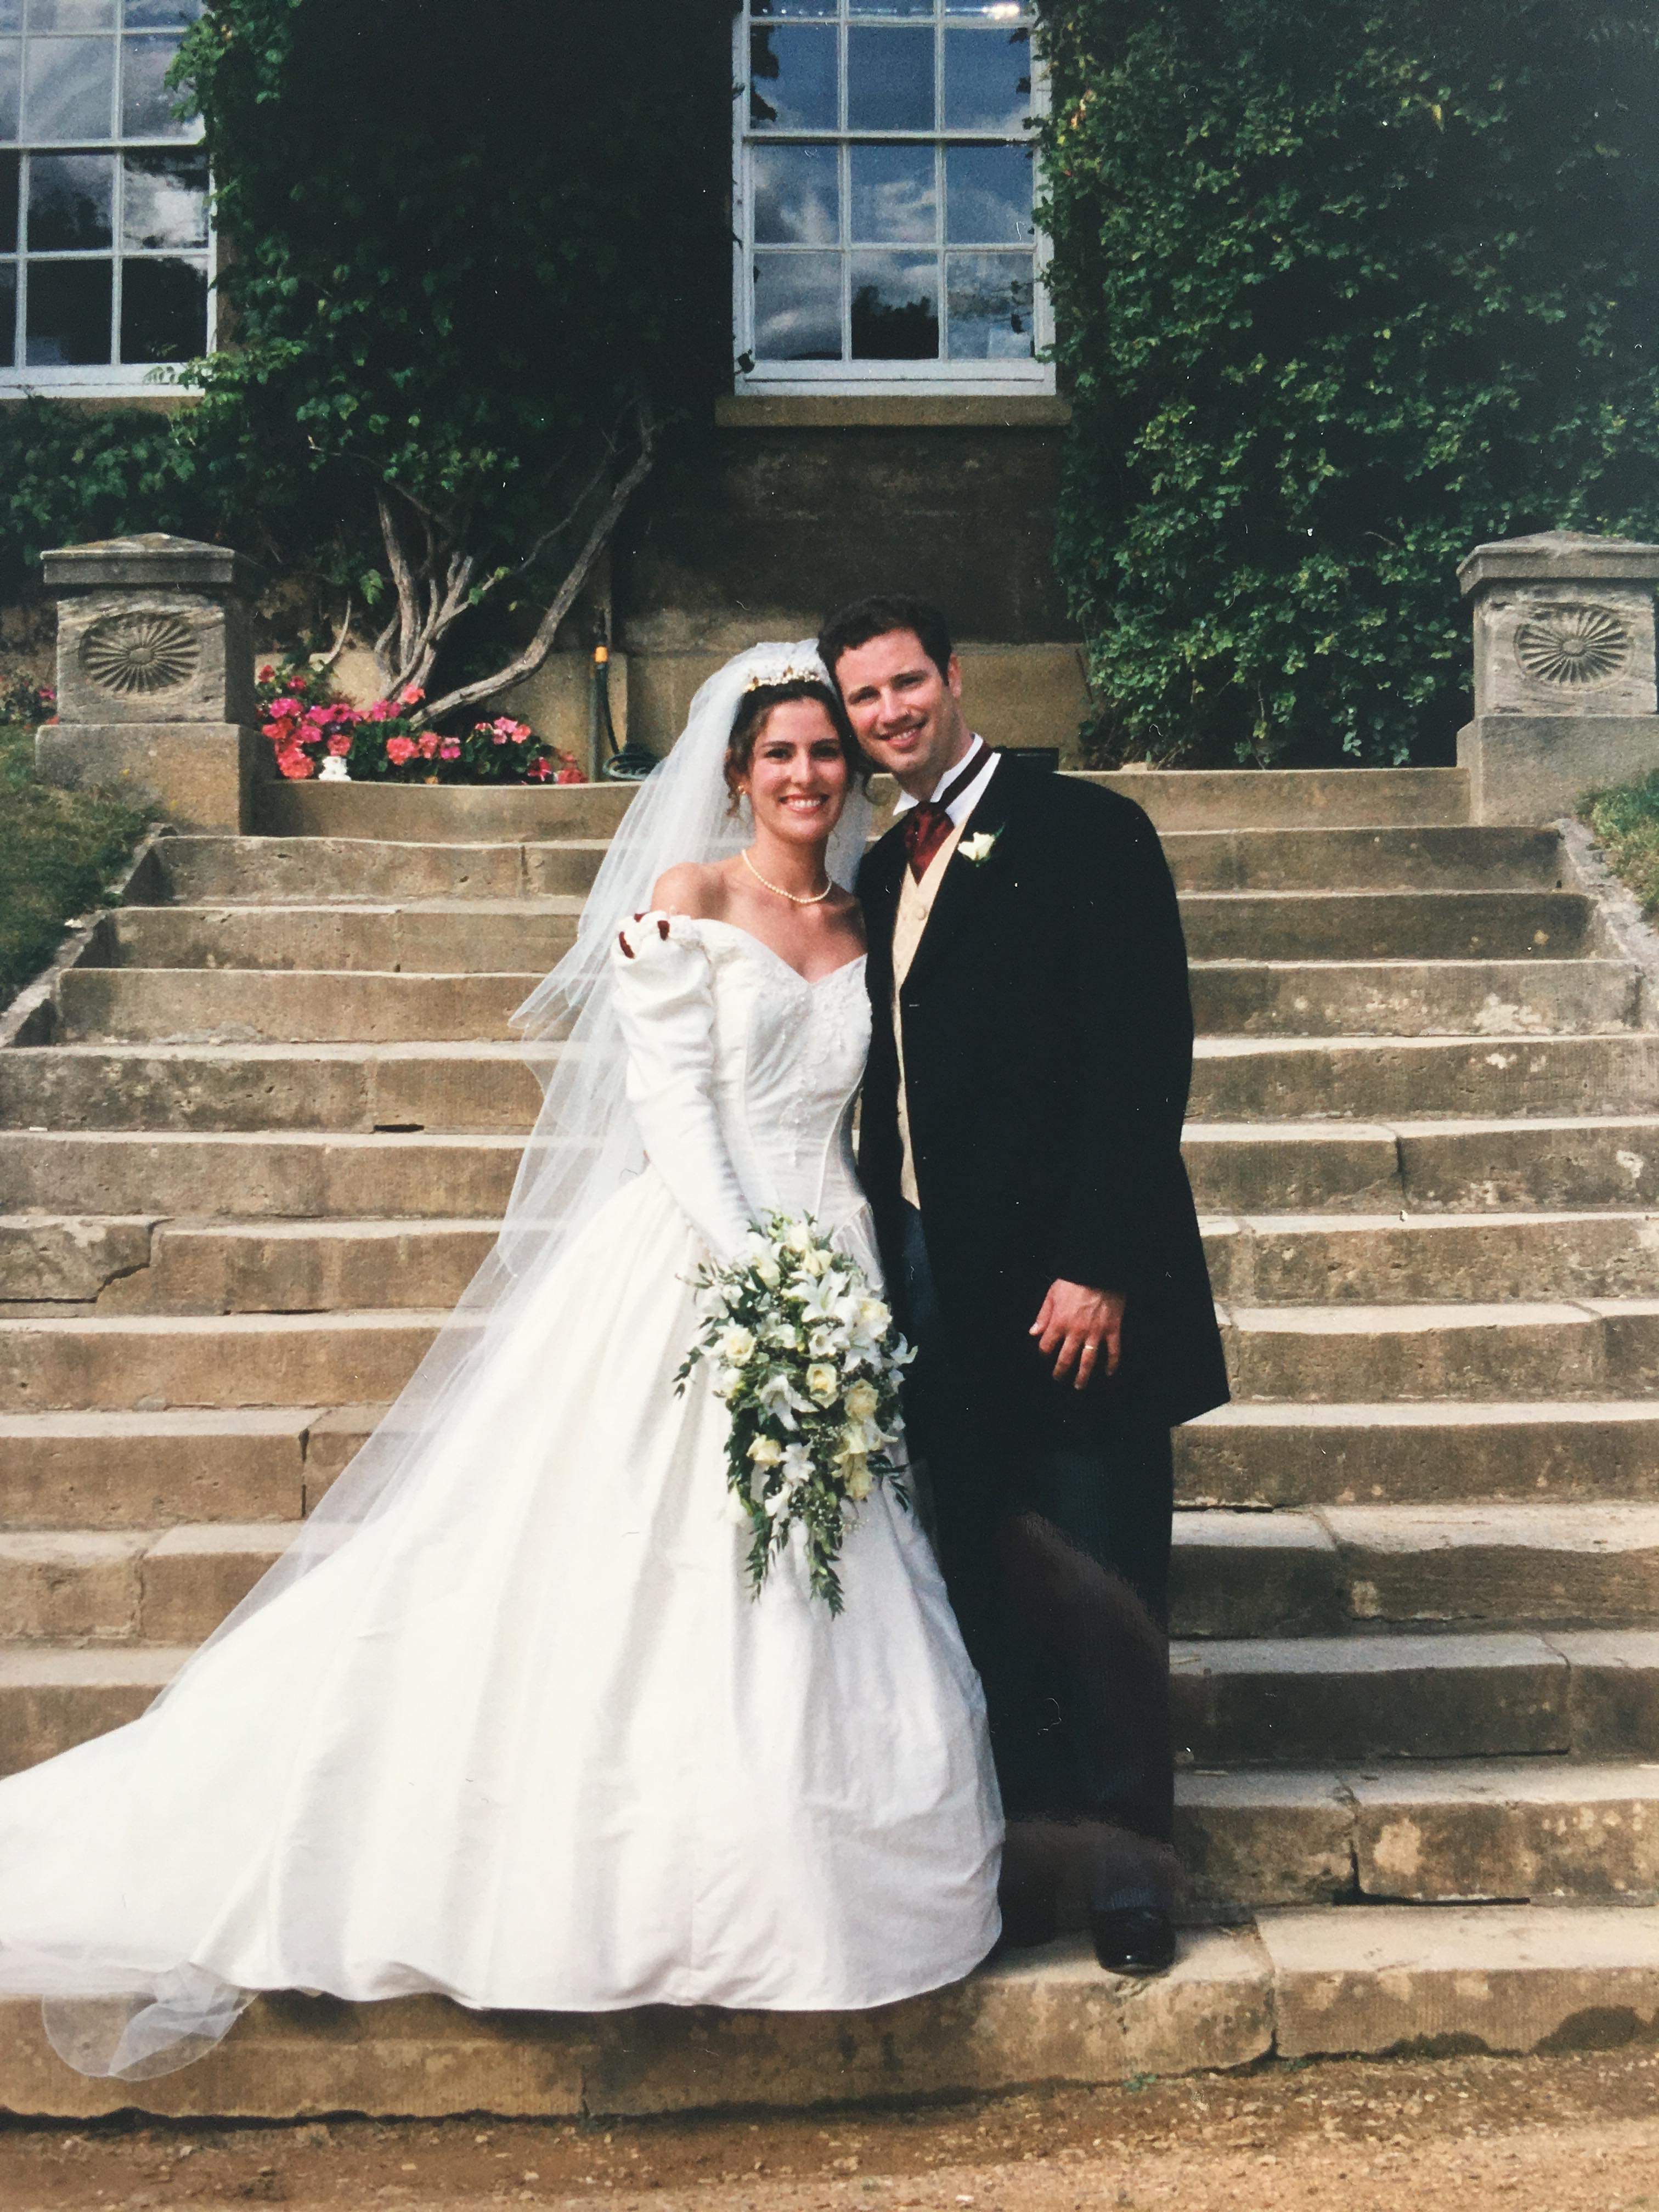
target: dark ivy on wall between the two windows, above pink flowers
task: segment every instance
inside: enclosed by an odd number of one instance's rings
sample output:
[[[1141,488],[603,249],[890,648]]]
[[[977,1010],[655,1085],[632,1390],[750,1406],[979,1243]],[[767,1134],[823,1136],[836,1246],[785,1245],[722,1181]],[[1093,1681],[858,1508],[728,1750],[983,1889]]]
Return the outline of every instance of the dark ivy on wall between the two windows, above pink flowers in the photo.
[[[495,666],[641,407],[672,427],[730,374],[730,0],[210,0],[175,82],[230,343],[170,418],[0,409],[0,597],[42,544],[184,529],[319,613],[349,597],[374,637],[400,602],[385,500],[411,571],[434,546],[440,586],[469,564],[445,675]]]

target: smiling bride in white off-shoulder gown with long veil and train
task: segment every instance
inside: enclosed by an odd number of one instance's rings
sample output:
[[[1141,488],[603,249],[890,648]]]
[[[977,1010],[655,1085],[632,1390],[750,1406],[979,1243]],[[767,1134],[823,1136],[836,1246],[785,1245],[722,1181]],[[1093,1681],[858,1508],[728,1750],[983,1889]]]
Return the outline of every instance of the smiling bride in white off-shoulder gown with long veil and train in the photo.
[[[575,949],[507,1223],[301,1535],[128,1728],[0,1783],[0,1989],[166,2073],[263,1989],[872,2006],[998,1936],[978,1679],[887,1489],[759,1597],[690,1276],[854,1181],[867,803],[814,648],[712,677]],[[838,878],[838,880],[836,880]]]

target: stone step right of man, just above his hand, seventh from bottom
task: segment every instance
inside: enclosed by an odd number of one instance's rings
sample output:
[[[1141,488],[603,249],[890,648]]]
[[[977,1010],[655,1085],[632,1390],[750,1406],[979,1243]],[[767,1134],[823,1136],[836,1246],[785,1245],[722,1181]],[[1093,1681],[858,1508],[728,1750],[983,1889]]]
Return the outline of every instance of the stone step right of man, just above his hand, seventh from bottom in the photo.
[[[1650,1212],[1248,1214],[1201,1225],[1210,1285],[1234,1305],[1659,1294]]]

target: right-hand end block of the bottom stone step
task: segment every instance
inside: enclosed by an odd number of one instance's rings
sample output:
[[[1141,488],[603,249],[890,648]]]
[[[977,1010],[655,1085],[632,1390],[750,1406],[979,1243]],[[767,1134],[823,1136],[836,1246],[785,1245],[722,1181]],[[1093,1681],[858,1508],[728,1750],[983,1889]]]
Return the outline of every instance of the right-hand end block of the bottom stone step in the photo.
[[[1604,2051],[1659,2033],[1659,1913],[1263,1913],[1281,2057]]]

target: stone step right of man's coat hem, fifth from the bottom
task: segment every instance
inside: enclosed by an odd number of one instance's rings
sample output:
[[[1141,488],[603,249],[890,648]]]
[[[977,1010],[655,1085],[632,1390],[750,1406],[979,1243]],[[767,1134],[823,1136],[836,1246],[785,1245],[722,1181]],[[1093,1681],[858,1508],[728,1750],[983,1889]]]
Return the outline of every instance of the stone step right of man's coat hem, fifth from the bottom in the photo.
[[[1181,1504],[1659,1500],[1659,1400],[1239,1402],[1175,1431]]]

